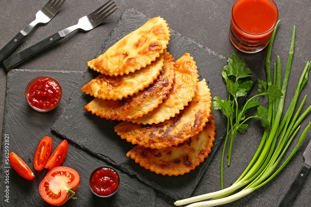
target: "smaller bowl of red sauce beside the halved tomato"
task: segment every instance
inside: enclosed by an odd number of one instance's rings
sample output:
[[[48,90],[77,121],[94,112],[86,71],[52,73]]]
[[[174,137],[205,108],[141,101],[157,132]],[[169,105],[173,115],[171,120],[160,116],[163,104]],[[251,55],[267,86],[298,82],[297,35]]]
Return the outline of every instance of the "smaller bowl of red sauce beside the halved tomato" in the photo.
[[[95,168],[89,177],[89,187],[98,197],[108,198],[119,189],[120,176],[118,172],[109,166]]]

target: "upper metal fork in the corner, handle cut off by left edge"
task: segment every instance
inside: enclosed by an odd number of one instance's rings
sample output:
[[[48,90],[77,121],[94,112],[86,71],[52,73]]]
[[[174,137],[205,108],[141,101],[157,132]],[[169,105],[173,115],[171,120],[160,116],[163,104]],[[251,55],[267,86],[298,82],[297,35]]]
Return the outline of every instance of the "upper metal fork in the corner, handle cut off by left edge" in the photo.
[[[21,43],[21,41],[23,41],[23,39],[25,39],[35,25],[39,23],[48,23],[63,6],[65,1],[66,0],[49,0],[49,2],[37,12],[36,19],[16,34],[15,37],[0,50],[0,63]]]

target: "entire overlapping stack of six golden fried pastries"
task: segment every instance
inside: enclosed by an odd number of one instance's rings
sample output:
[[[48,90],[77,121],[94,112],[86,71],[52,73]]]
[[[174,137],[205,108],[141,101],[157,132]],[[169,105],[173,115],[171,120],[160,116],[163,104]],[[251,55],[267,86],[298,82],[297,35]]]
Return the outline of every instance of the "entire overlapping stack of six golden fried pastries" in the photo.
[[[84,107],[123,120],[114,130],[137,144],[127,153],[155,173],[182,175],[204,161],[215,140],[211,94],[198,82],[193,57],[169,52],[169,27],[156,17],[87,65],[101,74],[81,90],[95,99]]]

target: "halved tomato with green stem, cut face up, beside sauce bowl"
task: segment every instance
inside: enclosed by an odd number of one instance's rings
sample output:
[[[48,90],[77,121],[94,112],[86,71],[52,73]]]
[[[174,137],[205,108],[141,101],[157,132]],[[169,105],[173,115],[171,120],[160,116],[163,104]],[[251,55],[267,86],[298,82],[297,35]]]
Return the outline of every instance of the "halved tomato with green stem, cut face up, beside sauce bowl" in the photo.
[[[69,167],[55,167],[51,169],[39,185],[39,192],[43,200],[51,205],[63,205],[75,195],[80,186],[80,176],[76,170]]]

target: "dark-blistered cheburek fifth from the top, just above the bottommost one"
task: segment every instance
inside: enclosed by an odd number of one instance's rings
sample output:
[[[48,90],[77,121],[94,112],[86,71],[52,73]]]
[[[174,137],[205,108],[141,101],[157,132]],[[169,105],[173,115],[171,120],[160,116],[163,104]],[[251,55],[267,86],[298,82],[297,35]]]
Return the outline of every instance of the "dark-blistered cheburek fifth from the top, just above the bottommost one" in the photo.
[[[122,139],[151,149],[177,146],[203,130],[211,113],[211,93],[205,79],[197,83],[192,101],[169,120],[159,124],[134,124],[124,121],[114,127]]]

